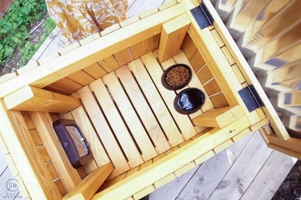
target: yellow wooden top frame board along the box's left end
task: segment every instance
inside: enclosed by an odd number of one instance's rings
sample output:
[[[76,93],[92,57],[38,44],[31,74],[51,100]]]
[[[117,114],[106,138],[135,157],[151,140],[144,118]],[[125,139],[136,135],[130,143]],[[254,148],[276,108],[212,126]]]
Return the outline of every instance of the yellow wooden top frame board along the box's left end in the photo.
[[[0,102],[0,132],[30,196],[61,199],[20,111],[8,111]]]

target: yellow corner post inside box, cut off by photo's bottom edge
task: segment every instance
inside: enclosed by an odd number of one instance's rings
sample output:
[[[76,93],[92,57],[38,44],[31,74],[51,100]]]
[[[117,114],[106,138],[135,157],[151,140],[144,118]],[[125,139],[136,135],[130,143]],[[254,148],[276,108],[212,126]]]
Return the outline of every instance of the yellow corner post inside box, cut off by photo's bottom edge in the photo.
[[[82,194],[84,199],[91,199],[112,171],[112,163],[94,170],[63,199],[69,199],[78,194]]]

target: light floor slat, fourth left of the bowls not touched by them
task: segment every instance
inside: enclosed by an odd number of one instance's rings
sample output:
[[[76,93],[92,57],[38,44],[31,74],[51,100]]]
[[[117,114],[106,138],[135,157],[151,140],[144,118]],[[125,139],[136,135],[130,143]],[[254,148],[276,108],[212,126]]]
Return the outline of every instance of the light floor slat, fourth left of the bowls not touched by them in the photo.
[[[95,82],[92,82],[90,86],[93,88],[95,96],[132,167],[140,165],[143,163],[142,157],[130,136],[129,131],[123,123],[123,120],[104,85],[104,82],[101,79],[98,79]]]

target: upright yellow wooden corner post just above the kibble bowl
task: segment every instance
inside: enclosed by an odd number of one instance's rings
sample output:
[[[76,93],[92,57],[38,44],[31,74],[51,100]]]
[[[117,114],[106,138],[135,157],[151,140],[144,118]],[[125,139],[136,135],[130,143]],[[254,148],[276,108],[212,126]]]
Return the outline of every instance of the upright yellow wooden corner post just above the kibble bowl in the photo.
[[[190,19],[186,14],[163,24],[158,51],[158,60],[160,63],[178,54],[189,24]]]

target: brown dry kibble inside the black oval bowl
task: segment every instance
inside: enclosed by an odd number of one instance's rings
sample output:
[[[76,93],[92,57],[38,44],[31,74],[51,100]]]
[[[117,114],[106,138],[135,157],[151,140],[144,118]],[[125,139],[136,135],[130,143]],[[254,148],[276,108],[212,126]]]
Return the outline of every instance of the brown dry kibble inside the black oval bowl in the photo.
[[[169,86],[177,87],[184,84],[189,78],[189,70],[186,67],[174,67],[166,73],[165,81]]]

